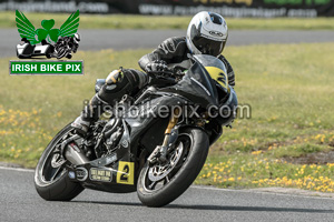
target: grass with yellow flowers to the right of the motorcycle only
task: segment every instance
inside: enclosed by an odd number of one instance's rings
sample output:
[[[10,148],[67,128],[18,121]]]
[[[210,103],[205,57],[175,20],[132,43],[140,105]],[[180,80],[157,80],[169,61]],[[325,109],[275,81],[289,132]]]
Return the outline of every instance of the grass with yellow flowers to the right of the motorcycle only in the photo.
[[[252,119],[237,119],[225,130],[197,183],[334,191],[333,164],[326,164],[334,160],[313,164],[334,150],[333,49],[333,43],[228,48],[239,103],[252,105]],[[305,164],[286,162],[305,157]]]

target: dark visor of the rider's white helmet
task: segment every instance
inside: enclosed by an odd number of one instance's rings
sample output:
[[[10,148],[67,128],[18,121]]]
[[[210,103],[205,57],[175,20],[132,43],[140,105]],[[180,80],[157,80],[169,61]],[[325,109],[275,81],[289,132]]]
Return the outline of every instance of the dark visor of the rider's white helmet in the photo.
[[[210,54],[214,57],[220,54],[225,47],[225,41],[215,41],[198,36],[193,38],[193,43],[203,54]]]

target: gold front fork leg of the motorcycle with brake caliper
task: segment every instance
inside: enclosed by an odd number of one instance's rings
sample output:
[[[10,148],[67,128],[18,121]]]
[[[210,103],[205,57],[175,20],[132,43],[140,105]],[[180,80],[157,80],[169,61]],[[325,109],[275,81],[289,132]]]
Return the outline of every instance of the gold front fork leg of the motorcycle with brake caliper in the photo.
[[[167,129],[165,131],[165,139],[161,145],[158,145],[153,153],[148,157],[149,163],[155,163],[157,161],[159,162],[166,162],[167,161],[167,149],[169,145],[171,145],[176,139],[177,139],[177,131],[173,132],[173,128],[176,125],[178,118],[179,118],[180,109],[176,108],[173,110],[169,123],[167,125]]]

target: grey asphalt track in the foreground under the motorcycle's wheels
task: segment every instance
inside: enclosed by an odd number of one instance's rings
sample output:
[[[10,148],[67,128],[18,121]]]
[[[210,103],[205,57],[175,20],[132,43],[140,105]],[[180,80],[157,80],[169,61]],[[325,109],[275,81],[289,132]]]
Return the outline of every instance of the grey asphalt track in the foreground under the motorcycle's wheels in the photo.
[[[71,202],[47,202],[33,172],[0,167],[0,221],[333,221],[334,200],[191,186],[171,204],[141,205],[136,193],[85,190]]]

